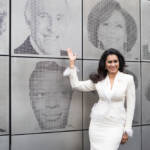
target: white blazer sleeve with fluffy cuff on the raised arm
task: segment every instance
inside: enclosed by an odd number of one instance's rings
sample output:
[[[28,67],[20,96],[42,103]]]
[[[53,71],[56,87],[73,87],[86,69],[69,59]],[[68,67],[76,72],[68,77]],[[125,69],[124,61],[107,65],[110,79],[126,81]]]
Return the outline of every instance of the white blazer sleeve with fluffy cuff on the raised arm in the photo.
[[[70,84],[73,89],[83,91],[83,92],[96,90],[95,84],[91,80],[79,81],[76,67],[74,68],[68,67],[64,71],[64,76],[69,76]]]

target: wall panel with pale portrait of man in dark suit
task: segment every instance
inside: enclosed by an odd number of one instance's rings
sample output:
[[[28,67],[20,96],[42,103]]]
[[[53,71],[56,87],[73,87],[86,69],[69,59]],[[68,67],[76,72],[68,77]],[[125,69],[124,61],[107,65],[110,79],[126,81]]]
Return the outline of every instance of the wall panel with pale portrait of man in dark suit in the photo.
[[[13,0],[12,10],[13,55],[66,57],[72,47],[81,57],[80,0]]]

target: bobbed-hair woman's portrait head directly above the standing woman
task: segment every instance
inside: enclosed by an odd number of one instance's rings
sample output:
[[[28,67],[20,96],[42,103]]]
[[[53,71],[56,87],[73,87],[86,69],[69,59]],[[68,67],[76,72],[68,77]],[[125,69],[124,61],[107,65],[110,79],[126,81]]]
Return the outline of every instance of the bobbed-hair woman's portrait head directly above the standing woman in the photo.
[[[88,15],[88,37],[96,48],[115,48],[126,55],[137,40],[137,26],[118,2],[102,0]]]

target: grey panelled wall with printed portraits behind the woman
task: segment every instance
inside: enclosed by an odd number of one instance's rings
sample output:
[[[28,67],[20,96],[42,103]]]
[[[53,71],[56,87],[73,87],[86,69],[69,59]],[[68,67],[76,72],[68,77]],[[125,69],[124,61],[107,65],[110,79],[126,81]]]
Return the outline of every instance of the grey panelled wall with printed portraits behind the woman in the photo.
[[[63,50],[86,80],[112,47],[136,85],[134,134],[119,150],[149,150],[149,14],[149,0],[0,0],[0,149],[90,150],[98,96],[71,90]]]

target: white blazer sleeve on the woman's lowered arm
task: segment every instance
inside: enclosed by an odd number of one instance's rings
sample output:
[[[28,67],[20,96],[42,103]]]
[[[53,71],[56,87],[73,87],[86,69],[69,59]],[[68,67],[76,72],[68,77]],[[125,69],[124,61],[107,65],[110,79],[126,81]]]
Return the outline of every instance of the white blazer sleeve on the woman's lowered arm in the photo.
[[[132,136],[133,129],[132,129],[132,122],[134,117],[134,110],[135,110],[135,84],[133,80],[133,76],[130,76],[127,92],[126,92],[126,122],[125,122],[125,129],[124,131],[129,135]]]

